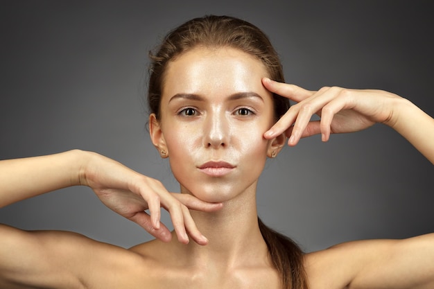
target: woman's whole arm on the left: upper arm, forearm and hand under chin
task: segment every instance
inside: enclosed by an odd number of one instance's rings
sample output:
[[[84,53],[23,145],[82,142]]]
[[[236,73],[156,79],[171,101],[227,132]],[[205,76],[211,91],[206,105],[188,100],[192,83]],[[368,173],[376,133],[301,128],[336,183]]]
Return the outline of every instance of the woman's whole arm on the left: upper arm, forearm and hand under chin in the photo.
[[[181,242],[189,241],[188,231],[201,245],[207,239],[194,225],[188,208],[214,211],[221,207],[191,195],[169,193],[157,180],[93,152],[72,150],[0,161],[2,207],[74,185],[89,186],[107,207],[163,241],[171,239],[171,232],[159,224],[160,207],[171,214]],[[150,215],[145,212],[147,209]],[[0,288],[95,288],[92,283],[116,284],[119,275],[112,272],[134,272],[132,265],[140,263],[137,255],[125,249],[73,233],[21,231],[0,225],[0,236]],[[143,272],[137,276],[143,276]]]

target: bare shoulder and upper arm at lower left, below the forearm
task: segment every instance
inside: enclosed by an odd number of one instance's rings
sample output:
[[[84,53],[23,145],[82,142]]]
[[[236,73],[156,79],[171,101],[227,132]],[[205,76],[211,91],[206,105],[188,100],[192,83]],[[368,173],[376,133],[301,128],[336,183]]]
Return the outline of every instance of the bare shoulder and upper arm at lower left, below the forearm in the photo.
[[[67,231],[0,231],[0,259],[8,260],[0,261],[1,288],[134,288],[145,281],[144,259],[122,247]]]

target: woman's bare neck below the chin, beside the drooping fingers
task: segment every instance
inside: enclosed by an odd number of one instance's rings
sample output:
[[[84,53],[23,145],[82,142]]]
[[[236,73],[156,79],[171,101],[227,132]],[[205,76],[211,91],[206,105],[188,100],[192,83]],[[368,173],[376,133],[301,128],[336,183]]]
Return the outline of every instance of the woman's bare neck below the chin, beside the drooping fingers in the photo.
[[[178,252],[185,252],[182,256],[189,263],[219,263],[227,268],[267,258],[268,249],[258,225],[255,190],[252,190],[225,202],[223,209],[217,212],[191,211],[209,243],[205,246],[194,242],[177,243]]]

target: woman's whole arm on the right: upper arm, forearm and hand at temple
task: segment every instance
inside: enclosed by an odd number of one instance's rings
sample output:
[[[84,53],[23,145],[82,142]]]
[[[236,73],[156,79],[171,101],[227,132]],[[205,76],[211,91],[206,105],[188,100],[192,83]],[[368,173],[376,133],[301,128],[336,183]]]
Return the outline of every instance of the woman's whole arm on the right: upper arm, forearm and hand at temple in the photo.
[[[410,101],[380,90],[324,87],[308,91],[263,80],[272,92],[297,102],[265,137],[302,137],[356,132],[374,123],[394,128],[434,164],[434,119]],[[318,114],[320,121],[311,121]],[[363,240],[306,255],[310,288],[434,288],[434,234],[406,240]]]

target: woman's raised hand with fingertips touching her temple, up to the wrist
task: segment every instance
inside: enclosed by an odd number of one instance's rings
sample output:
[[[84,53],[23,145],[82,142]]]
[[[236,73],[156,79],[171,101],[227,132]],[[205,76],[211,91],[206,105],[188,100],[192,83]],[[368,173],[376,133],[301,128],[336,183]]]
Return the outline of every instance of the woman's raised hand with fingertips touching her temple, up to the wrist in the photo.
[[[381,90],[323,87],[309,91],[269,78],[262,82],[272,93],[297,102],[264,134],[266,139],[272,139],[285,133],[289,146],[314,134],[322,134],[322,141],[328,141],[330,134],[357,132],[374,123],[392,125],[394,100],[402,99]],[[320,121],[311,121],[313,114],[320,116]]]

